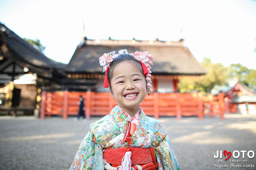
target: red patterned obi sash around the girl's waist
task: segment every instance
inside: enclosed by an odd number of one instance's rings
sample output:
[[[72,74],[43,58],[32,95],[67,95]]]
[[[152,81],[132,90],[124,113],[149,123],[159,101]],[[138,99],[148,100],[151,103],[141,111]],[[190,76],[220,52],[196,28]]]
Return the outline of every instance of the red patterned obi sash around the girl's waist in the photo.
[[[118,167],[122,164],[122,158],[128,148],[106,148],[103,152],[103,158],[113,167]],[[157,168],[156,155],[154,148],[134,148],[129,147],[132,152],[131,160],[132,167],[138,170],[137,166],[140,165],[143,170],[155,170]]]

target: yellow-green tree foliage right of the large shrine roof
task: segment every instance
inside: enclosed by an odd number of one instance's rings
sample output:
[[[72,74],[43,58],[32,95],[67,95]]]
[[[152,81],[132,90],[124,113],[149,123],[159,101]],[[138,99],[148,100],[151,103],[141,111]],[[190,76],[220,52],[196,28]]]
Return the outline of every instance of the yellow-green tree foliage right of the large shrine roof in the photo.
[[[239,63],[224,67],[220,63],[213,64],[211,59],[206,57],[202,65],[208,71],[207,74],[200,79],[180,79],[178,88],[181,93],[194,91],[202,91],[204,94],[210,93],[215,85],[226,85],[226,80],[234,77],[238,78],[248,88],[256,89],[256,70],[254,69],[248,69]]]

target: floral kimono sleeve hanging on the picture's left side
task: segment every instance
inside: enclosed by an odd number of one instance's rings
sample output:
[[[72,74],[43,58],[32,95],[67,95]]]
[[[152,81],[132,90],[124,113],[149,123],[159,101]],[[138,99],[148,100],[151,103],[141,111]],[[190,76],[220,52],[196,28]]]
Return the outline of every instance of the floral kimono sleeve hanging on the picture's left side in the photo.
[[[103,152],[88,132],[80,144],[70,170],[104,170]]]

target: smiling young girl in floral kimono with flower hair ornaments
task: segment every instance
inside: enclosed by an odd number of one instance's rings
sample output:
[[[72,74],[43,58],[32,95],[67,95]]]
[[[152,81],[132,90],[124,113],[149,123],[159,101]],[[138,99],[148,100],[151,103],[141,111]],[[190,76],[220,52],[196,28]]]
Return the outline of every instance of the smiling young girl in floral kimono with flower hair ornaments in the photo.
[[[126,49],[118,54],[105,53],[100,65],[106,70],[104,87],[119,105],[90,125],[70,169],[180,169],[166,127],[140,108],[151,92],[153,56]]]

